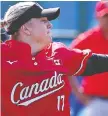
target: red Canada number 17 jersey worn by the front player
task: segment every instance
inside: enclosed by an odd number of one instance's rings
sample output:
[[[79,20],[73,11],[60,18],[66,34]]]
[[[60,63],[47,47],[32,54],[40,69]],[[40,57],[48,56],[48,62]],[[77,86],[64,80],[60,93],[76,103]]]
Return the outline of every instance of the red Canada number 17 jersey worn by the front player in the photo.
[[[1,50],[4,115],[70,116],[68,75],[82,73],[89,52],[51,43],[32,56],[30,46],[16,40]]]

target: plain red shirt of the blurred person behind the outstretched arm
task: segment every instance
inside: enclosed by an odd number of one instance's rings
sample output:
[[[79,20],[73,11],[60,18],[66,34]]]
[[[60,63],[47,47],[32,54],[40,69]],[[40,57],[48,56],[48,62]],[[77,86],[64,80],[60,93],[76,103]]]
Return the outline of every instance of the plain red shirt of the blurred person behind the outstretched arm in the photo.
[[[95,53],[108,54],[108,40],[105,39],[99,27],[80,34],[70,47],[82,50],[91,49]],[[86,76],[83,78],[82,87],[85,94],[108,97],[108,73]]]

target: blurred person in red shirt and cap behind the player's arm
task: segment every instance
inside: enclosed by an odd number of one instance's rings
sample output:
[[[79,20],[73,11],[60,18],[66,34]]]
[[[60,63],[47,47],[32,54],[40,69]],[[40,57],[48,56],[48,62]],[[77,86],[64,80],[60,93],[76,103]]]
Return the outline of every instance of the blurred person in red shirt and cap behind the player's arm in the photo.
[[[99,25],[80,34],[71,43],[71,49],[91,49],[95,53],[108,54],[108,2],[97,2],[95,12]],[[75,77],[71,79],[72,91],[86,106],[78,116],[108,116],[108,73],[85,76],[81,85]]]

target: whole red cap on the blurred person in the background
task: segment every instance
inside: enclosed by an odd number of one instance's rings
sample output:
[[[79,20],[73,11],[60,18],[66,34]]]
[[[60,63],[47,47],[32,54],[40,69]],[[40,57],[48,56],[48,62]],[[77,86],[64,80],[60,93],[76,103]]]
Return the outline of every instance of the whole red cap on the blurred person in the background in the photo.
[[[108,1],[99,1],[96,4],[96,16],[103,17],[108,14]]]

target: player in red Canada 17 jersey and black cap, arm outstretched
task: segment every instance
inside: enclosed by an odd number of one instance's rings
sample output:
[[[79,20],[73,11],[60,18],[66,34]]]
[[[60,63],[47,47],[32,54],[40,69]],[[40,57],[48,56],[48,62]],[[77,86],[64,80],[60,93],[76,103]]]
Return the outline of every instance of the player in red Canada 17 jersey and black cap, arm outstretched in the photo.
[[[70,116],[68,76],[108,71],[108,55],[52,42],[50,21],[59,13],[36,2],[6,12],[2,27],[11,38],[1,44],[2,115]]]

